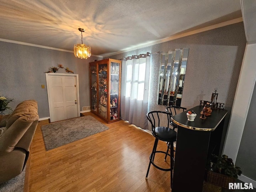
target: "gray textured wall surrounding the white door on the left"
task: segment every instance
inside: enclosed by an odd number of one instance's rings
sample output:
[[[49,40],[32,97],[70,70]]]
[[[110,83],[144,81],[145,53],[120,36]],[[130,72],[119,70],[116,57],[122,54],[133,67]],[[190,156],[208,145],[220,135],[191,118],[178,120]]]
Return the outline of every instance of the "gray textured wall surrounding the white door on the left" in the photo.
[[[78,74],[82,110],[82,106],[90,106],[89,62],[95,59],[99,60],[93,56],[82,60],[70,52],[0,42],[0,95],[14,98],[10,103],[12,108],[23,100],[37,100],[39,117],[49,117],[44,72],[62,64]],[[58,73],[66,72],[60,69]],[[45,85],[44,89],[41,84]]]

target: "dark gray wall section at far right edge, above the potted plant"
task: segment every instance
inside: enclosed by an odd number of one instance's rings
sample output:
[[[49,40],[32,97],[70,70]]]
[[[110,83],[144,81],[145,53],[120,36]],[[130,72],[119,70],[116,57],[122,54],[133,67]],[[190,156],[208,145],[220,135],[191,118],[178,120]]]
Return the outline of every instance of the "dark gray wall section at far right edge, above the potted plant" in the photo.
[[[256,181],[256,84],[248,110],[244,132],[240,142],[236,165],[241,167],[242,174]],[[255,187],[255,186],[254,186]]]

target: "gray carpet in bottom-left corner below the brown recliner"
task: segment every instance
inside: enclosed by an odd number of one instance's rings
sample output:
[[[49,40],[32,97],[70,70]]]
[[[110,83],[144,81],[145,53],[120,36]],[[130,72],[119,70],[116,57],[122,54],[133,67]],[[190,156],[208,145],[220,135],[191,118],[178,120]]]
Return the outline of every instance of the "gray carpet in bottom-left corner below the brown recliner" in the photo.
[[[26,166],[18,176],[0,184],[0,192],[23,192]]]

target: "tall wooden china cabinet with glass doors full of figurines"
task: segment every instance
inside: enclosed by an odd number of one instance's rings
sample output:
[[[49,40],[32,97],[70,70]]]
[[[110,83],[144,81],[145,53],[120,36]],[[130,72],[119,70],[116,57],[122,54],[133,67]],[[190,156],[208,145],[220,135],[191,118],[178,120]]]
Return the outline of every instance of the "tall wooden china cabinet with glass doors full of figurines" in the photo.
[[[121,64],[115,59],[90,62],[91,112],[107,123],[120,120]]]

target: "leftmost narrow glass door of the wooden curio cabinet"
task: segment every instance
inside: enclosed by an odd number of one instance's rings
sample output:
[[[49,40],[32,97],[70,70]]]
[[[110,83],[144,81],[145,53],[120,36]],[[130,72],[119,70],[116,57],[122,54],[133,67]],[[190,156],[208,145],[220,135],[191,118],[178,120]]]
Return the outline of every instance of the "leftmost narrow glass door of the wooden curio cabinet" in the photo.
[[[91,109],[97,112],[97,66],[90,66],[91,76]]]

